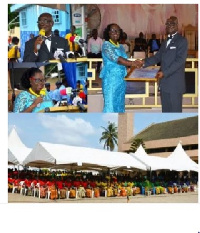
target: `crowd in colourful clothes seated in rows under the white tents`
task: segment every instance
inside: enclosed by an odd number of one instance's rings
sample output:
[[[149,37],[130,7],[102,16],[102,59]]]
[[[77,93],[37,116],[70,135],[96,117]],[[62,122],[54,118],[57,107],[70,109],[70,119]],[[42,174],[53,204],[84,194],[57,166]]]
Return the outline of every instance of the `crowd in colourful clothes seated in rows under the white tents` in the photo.
[[[149,175],[148,175],[149,176]],[[8,171],[8,192],[18,192],[25,195],[56,198],[83,198],[83,197],[114,197],[134,196],[145,194],[150,190],[152,194],[194,191],[197,184],[197,175],[188,178],[177,172],[168,174],[156,172],[149,177],[142,173],[135,173],[134,177],[123,174],[70,173],[66,171]],[[23,191],[22,191],[23,189]],[[14,190],[14,191],[13,191]]]

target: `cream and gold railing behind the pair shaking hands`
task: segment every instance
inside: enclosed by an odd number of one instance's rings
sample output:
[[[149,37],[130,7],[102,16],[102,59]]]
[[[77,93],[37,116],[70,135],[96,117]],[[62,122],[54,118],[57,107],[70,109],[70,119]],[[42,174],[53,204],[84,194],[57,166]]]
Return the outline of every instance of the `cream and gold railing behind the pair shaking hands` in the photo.
[[[132,59],[135,60],[135,59]],[[101,87],[93,87],[93,83],[97,81],[96,69],[94,68],[97,62],[102,61],[98,58],[88,58],[88,94],[99,93]],[[183,107],[197,108],[198,107],[198,58],[187,58],[185,72],[194,74],[194,91],[183,95]],[[142,94],[126,94],[126,109],[128,108],[157,108],[161,107],[160,95],[157,82],[145,82],[144,93]]]

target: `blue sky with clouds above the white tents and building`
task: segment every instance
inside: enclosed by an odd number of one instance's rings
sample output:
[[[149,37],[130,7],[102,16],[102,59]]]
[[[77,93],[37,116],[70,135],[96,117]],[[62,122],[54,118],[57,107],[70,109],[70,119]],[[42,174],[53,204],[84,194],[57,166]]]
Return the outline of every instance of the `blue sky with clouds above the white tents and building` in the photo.
[[[152,123],[159,123],[196,116],[196,113],[134,114],[134,134],[137,134]],[[23,143],[33,148],[37,142],[61,143],[74,146],[86,146],[103,149],[99,144],[102,128],[107,122],[117,124],[117,114],[87,113],[87,114],[8,114],[8,132],[15,125]]]

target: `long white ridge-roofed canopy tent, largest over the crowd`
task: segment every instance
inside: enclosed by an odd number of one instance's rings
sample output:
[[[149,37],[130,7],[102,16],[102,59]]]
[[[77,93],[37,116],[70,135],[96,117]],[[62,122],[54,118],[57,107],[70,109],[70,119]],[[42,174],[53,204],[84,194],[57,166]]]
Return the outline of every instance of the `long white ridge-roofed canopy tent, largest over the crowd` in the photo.
[[[110,152],[87,147],[39,142],[23,165],[34,167],[87,169],[95,168],[136,168],[146,170],[146,166],[129,154]]]

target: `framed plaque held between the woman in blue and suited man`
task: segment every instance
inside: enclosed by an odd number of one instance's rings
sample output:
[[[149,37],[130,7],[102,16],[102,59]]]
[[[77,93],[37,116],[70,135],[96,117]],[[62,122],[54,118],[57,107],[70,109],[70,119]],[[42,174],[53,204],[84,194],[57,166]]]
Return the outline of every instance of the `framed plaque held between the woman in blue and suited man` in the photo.
[[[156,75],[160,67],[150,66],[147,68],[132,68],[126,76],[127,81],[156,81]]]

